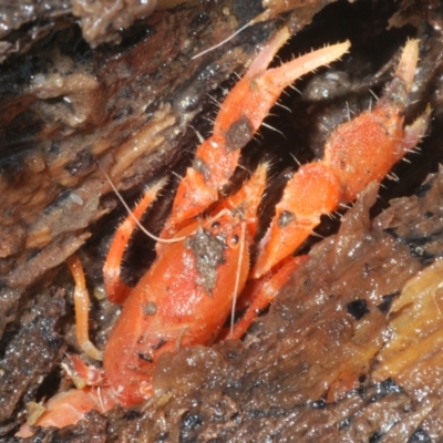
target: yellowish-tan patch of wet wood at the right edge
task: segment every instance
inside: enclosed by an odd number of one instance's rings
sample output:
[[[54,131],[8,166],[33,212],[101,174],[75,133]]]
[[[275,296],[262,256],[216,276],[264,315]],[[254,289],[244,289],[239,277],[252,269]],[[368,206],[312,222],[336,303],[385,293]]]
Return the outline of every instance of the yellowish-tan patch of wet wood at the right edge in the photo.
[[[377,357],[374,380],[393,378],[409,391],[434,390],[436,374],[426,369],[443,368],[442,272],[443,260],[437,260],[403,287],[390,311],[392,337]]]

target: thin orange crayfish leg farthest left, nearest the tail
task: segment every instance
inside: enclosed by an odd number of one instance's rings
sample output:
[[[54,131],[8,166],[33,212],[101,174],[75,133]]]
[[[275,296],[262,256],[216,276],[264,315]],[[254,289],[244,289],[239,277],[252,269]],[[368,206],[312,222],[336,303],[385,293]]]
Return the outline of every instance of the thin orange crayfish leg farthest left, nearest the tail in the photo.
[[[89,336],[90,296],[84,279],[83,266],[75,255],[68,259],[68,266],[75,281],[74,308],[75,333],[80,348],[94,360],[102,360],[103,353],[91,342]]]

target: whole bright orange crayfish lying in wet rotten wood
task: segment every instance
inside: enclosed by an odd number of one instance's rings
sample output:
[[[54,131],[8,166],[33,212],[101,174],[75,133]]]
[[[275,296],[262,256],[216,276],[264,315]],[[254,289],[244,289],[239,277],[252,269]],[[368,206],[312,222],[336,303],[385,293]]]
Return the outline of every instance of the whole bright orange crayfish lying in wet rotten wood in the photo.
[[[157,244],[157,259],[134,289],[120,280],[127,240],[162,184],[146,192],[120,226],[104,265],[106,291],[123,303],[103,353],[103,371],[80,358],[68,359],[78,389],[51,399],[37,420],[40,426],[65,426],[92,409],[140,404],[153,394],[152,375],[161,354],[220,338],[241,337],[255,311],[270,302],[305,258],[291,253],[312,233],[322,214],[352,202],[370,182],[381,181],[424,134],[430,109],[403,127],[403,110],[418,63],[419,43],[406,43],[394,79],[377,106],[340,125],[321,161],[303,165],[288,182],[270,227],[260,240],[250,271],[249,249],[257,230],[257,208],[266,187],[266,165],[233,196],[220,198],[237,166],[241,147],[254,136],[281,91],[298,76],[341,56],[341,43],[267,69],[289,38],[285,28],[268,43],[222,104],[213,135],[197,148],[179,184],[171,217]],[[78,338],[83,350],[101,359],[87,338],[87,293],[82,266],[69,260],[75,280]],[[247,280],[247,291],[244,291]],[[244,292],[243,292],[244,291]],[[248,306],[231,328],[223,327],[237,297]],[[233,308],[234,307],[234,308]],[[22,427],[21,436],[30,429]]]

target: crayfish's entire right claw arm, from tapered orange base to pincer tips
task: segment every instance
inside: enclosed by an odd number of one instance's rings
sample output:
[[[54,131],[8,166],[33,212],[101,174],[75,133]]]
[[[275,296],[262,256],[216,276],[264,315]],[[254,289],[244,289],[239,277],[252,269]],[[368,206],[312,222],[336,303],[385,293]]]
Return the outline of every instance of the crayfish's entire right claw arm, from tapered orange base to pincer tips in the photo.
[[[410,40],[394,79],[375,107],[338,126],[326,143],[324,158],[301,166],[288,182],[260,243],[261,254],[253,271],[255,278],[299,247],[318,225],[321,214],[354,200],[371,182],[381,182],[420,142],[427,128],[430,106],[411,126],[403,128],[418,60],[419,42]],[[317,177],[308,179],[303,176],[310,168],[312,173],[319,172]]]

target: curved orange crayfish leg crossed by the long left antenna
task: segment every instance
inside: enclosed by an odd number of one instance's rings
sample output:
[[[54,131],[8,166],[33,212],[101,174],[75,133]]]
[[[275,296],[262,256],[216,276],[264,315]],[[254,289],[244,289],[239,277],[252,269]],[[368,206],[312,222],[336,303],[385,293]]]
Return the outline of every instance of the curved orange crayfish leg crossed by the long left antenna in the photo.
[[[123,305],[131,292],[131,288],[121,280],[123,254],[140,219],[155,200],[164,184],[164,181],[159,181],[146,189],[135,208],[130,212],[124,222],[119,226],[111,243],[106,260],[103,265],[103,278],[106,296],[113,303]]]

